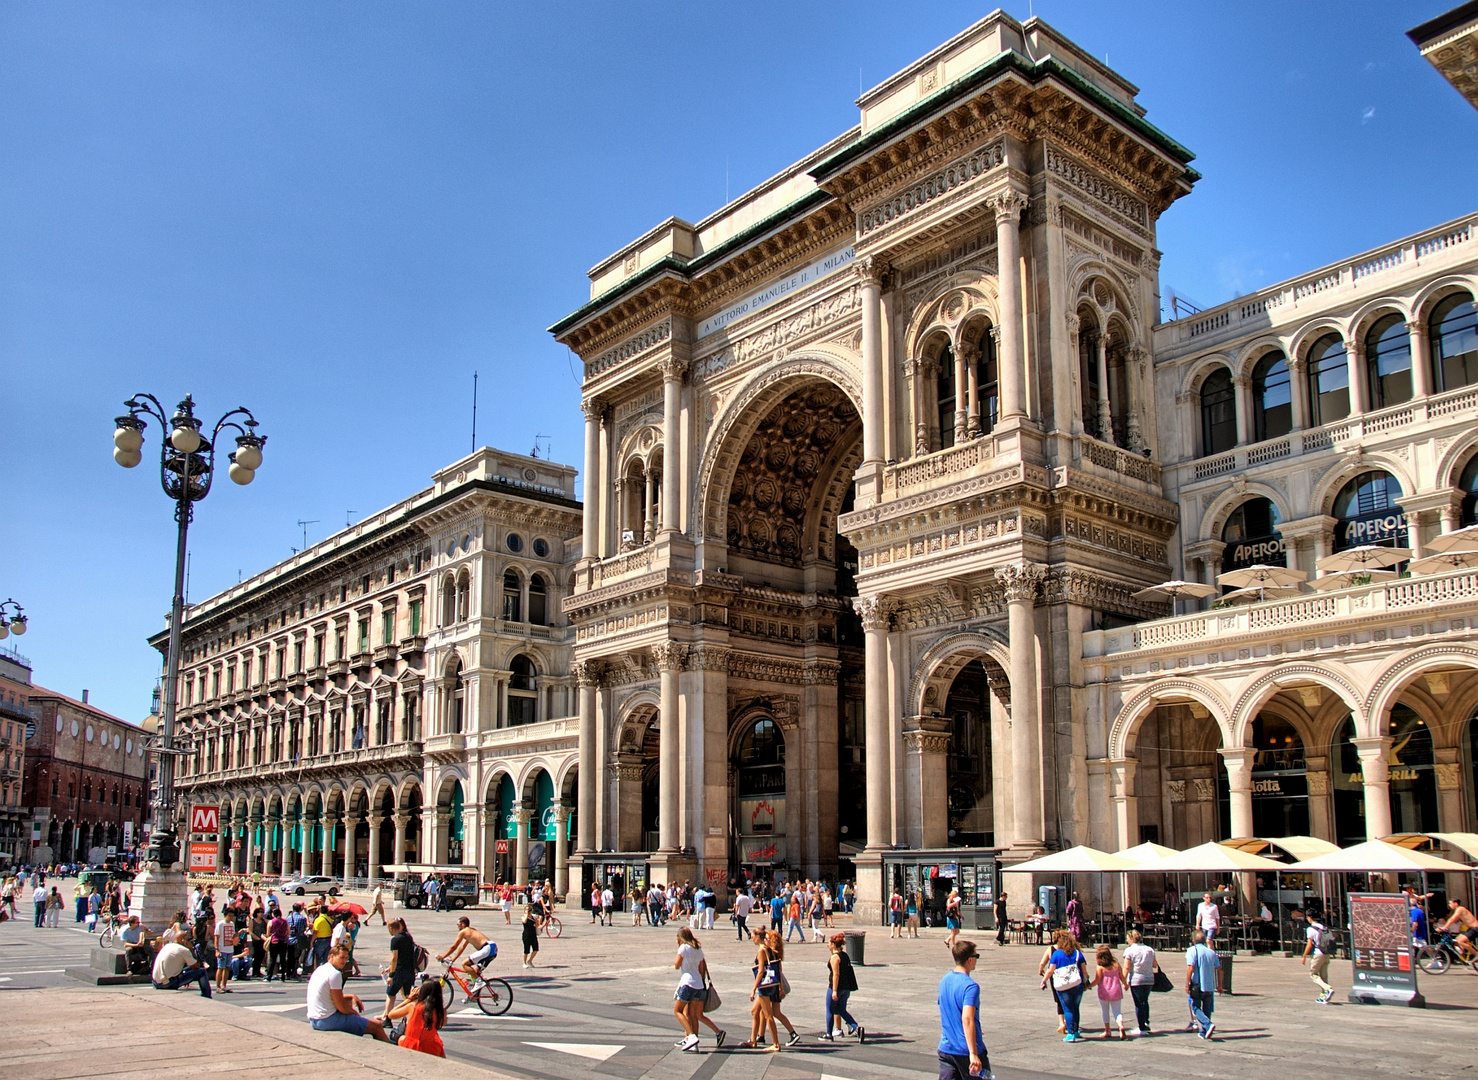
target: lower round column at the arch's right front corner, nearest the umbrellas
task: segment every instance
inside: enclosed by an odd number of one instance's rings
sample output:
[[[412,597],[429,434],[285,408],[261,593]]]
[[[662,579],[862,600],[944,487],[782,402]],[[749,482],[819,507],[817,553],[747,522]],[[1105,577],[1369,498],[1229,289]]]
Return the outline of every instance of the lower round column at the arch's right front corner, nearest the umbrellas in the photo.
[[[1036,591],[1045,572],[1038,563],[996,567],[1007,591],[1011,640],[1011,799],[1015,804],[1012,847],[1039,851],[1042,844],[1042,720],[1036,672]]]

